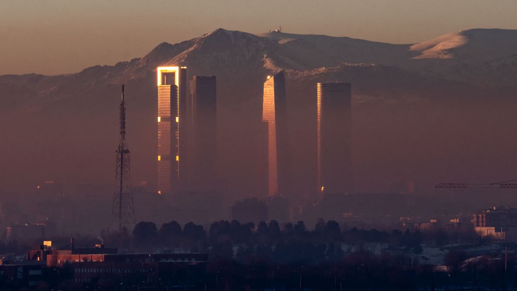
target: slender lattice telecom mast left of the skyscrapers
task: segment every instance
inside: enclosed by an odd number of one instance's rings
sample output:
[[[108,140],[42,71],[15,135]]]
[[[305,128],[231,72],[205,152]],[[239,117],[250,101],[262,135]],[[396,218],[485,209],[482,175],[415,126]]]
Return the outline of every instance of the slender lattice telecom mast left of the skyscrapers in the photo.
[[[126,107],[124,106],[124,85],[120,101],[120,137],[116,152],[115,192],[113,193],[112,224],[121,230],[134,225],[133,187],[131,184],[130,155],[126,144]]]

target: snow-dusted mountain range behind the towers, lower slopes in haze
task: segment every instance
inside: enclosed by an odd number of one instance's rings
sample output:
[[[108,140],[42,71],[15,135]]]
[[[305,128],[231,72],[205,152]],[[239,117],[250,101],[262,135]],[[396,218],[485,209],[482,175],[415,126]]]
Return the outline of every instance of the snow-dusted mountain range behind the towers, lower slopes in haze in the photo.
[[[393,45],[219,28],[114,66],[0,76],[2,194],[49,179],[69,189],[111,184],[122,83],[133,178],[156,185],[161,65],[187,66],[189,77],[217,76],[219,178],[235,197],[260,194],[262,83],[282,69],[300,195],[310,195],[315,183],[316,82],[352,83],[357,191],[390,191],[399,180],[431,192],[442,179],[515,178],[507,176],[517,162],[517,30],[473,29]]]

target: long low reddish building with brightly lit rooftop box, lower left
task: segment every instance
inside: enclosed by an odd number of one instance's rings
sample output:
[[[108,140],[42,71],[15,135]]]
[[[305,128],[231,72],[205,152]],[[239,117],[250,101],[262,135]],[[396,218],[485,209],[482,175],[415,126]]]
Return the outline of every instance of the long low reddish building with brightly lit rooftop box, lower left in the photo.
[[[171,278],[178,270],[195,269],[196,274],[204,272],[208,254],[119,254],[117,249],[73,248],[52,249],[51,243],[41,245],[40,250],[27,253],[27,262],[51,268],[65,268],[72,274],[74,282],[96,282],[101,284],[139,284],[158,282]],[[117,283],[117,284],[118,284]]]

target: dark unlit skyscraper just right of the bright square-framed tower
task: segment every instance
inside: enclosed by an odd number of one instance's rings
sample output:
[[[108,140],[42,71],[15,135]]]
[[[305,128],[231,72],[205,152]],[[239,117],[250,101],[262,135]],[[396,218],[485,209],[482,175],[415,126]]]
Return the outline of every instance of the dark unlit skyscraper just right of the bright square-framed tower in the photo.
[[[217,181],[217,86],[215,76],[190,81],[191,177],[196,191],[215,190]]]

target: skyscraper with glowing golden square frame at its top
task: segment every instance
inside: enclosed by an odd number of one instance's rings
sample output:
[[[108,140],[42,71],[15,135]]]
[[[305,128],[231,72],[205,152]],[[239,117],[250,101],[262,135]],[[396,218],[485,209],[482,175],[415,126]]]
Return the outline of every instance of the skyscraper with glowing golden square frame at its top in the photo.
[[[158,194],[178,191],[185,180],[184,117],[187,113],[187,68],[158,67]]]

